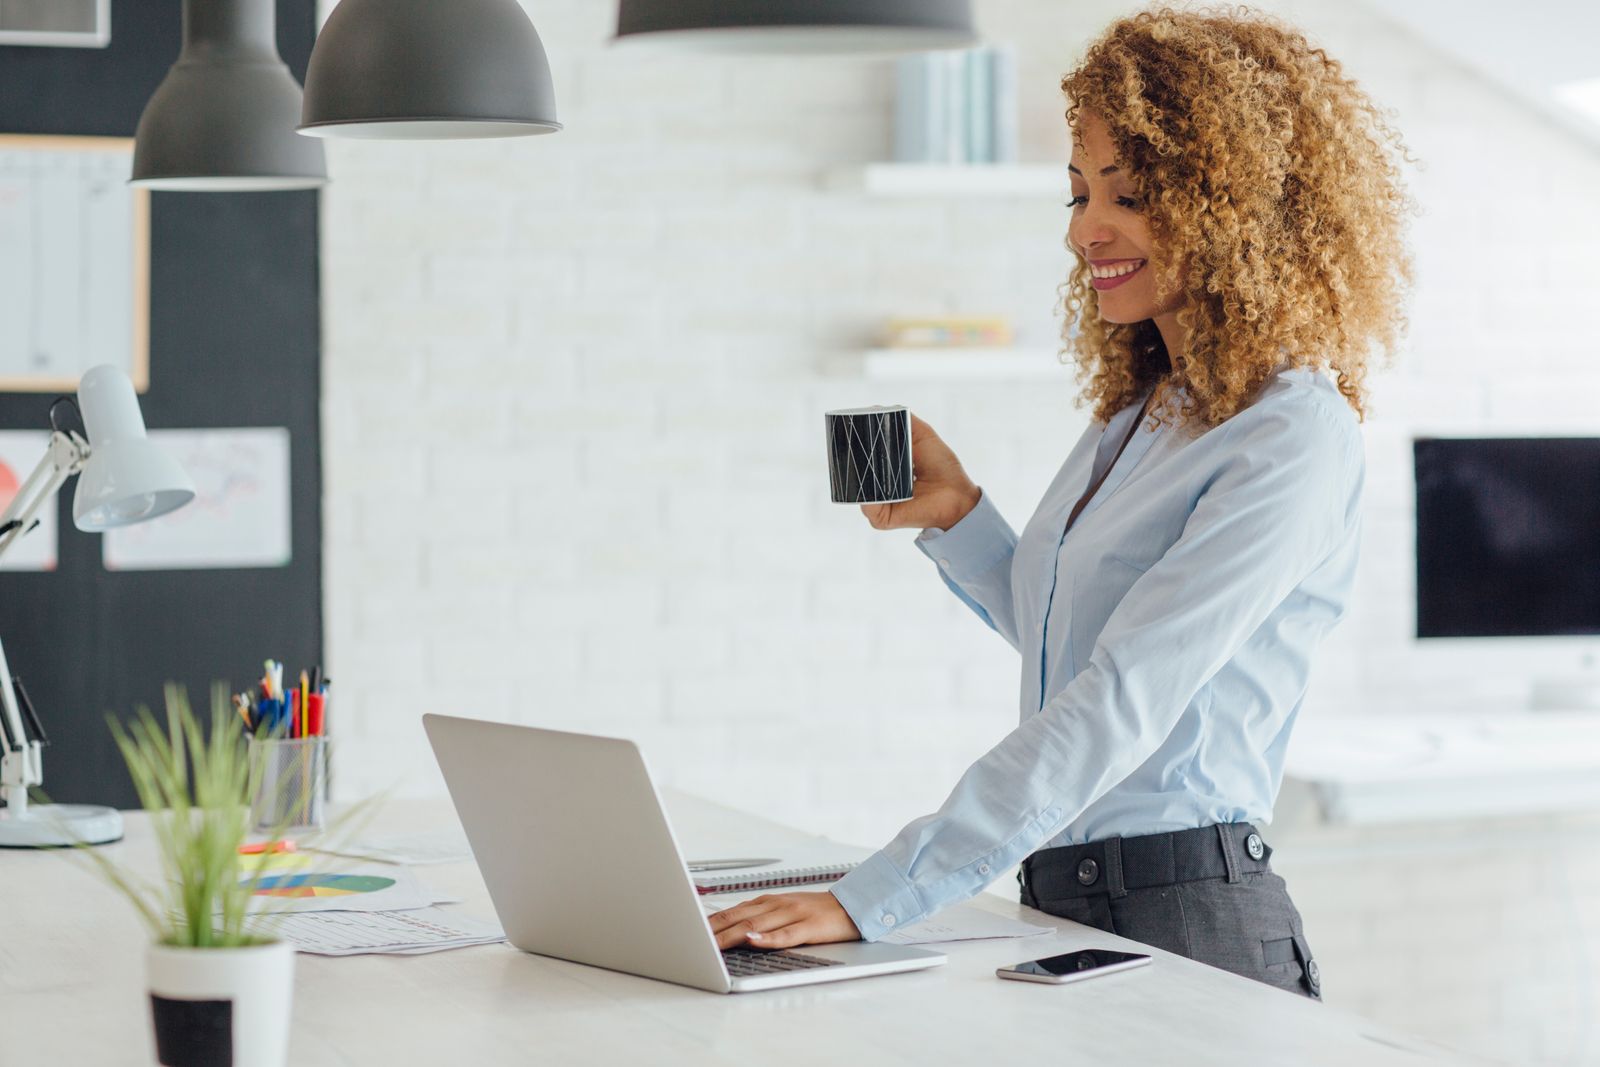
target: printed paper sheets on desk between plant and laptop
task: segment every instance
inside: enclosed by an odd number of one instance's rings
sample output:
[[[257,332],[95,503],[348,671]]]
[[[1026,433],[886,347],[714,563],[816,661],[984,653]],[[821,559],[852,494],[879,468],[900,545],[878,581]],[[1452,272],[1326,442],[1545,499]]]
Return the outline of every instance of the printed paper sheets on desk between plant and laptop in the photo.
[[[422,907],[411,912],[306,912],[283,915],[275,921],[256,917],[259,933],[282,937],[301,952],[323,957],[352,957],[368,952],[384,955],[421,955],[488,945],[506,941],[494,923]]]

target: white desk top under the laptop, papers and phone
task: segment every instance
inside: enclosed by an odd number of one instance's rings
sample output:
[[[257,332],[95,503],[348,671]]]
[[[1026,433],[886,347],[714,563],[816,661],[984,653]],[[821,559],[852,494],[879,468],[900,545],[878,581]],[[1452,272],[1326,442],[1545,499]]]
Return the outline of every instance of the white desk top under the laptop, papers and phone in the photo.
[[[781,851],[797,832],[667,797],[688,854]],[[448,803],[403,803],[374,832],[450,825]],[[109,846],[150,865],[149,824]],[[776,851],[774,851],[776,849]],[[0,1065],[147,1064],[144,933],[82,857],[0,854]],[[493,915],[472,864],[418,869]],[[1133,942],[979,894],[1056,926],[1026,941],[946,945],[931,971],[722,997],[547,960],[510,945],[422,957],[301,955],[290,1064],[1275,1064],[1478,1062],[1158,950],[1149,968],[1077,985],[995,979],[998,965]],[[1336,984],[1338,974],[1328,982]]]

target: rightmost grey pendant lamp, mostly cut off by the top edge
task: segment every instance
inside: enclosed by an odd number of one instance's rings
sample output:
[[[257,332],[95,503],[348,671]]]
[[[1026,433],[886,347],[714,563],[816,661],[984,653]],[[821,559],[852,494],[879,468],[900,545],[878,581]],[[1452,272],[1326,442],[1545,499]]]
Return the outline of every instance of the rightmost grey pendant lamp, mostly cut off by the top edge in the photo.
[[[616,45],[693,53],[896,53],[978,43],[971,0],[621,0]]]

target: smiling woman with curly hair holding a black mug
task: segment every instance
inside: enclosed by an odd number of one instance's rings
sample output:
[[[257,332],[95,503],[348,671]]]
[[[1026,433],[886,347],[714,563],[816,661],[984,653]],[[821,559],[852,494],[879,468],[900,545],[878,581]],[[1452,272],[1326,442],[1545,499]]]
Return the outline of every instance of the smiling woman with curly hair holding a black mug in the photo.
[[[1115,22],[1062,82],[1096,424],[1021,537],[928,424],[918,547],[1022,654],[1022,723],[830,893],[718,944],[877,939],[1021,862],[1022,901],[1320,998],[1270,819],[1310,653],[1355,576],[1373,349],[1403,328],[1403,149],[1338,62],[1253,14]]]

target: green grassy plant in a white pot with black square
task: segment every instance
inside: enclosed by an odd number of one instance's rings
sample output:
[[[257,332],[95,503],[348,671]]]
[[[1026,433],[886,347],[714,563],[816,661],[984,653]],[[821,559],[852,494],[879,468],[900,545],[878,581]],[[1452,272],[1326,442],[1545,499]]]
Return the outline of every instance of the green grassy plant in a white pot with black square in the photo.
[[[141,806],[149,813],[162,880],[147,883],[85,848],[99,873],[150,931],[146,953],[155,1056],[163,1067],[282,1067],[288,1053],[294,945],[270,936],[250,899],[270,851],[240,856],[259,760],[213,688],[202,728],[182,688],[166,686],[165,726],[147,707],[110,721]]]

